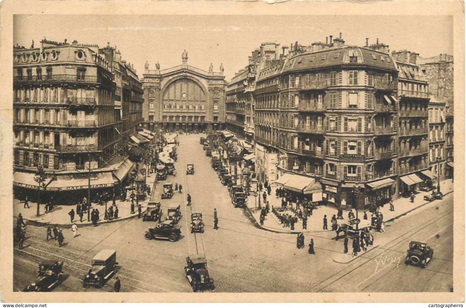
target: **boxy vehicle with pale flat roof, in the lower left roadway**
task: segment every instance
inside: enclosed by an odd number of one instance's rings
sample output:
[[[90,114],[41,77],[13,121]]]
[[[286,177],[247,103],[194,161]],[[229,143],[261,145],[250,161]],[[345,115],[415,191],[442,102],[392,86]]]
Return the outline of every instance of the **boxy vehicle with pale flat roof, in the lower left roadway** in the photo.
[[[82,278],[82,286],[96,286],[102,288],[103,284],[111,275],[115,273],[117,262],[117,252],[113,249],[103,249],[92,258],[92,268],[89,268],[87,275]]]

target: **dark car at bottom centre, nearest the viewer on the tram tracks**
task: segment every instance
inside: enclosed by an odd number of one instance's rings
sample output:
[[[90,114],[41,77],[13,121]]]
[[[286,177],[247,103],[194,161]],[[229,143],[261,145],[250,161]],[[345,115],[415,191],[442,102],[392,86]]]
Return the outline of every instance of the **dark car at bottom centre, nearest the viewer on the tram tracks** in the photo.
[[[186,279],[191,284],[193,292],[215,288],[213,279],[209,276],[207,259],[204,254],[190,254],[186,257],[186,263]]]

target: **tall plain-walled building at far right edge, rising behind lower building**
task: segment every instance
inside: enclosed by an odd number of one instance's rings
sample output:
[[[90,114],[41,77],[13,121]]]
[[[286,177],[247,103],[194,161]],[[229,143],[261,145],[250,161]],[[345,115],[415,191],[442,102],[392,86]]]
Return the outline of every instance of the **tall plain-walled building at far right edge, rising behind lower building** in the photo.
[[[445,103],[445,119],[440,117],[440,121],[444,121],[440,123],[445,123],[445,168],[442,169],[444,169],[447,178],[453,178],[453,56],[439,54],[431,58],[419,58],[418,61],[429,82],[431,94],[435,96],[436,100]]]

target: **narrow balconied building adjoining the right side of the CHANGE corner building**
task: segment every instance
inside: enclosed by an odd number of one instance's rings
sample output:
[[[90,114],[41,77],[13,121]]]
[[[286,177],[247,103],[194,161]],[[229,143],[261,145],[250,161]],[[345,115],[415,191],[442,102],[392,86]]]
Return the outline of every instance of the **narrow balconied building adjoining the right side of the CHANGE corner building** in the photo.
[[[429,167],[429,85],[418,66],[418,54],[392,52],[398,68],[398,193],[409,195]]]

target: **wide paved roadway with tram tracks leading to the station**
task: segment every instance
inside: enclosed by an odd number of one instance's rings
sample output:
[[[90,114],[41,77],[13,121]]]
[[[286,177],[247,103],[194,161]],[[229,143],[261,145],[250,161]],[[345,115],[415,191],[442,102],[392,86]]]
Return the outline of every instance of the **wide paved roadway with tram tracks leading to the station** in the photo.
[[[56,241],[45,240],[45,228],[27,226],[26,248],[14,250],[14,290],[32,281],[37,263],[48,257],[65,262],[63,281],[55,291],[110,292],[114,277],[102,289],[83,289],[80,282],[92,256],[105,248],[117,250],[122,292],[192,292],[184,266],[185,257],[196,252],[206,254],[215,280],[213,292],[445,292],[452,288],[452,194],[387,224],[384,234],[375,234],[377,248],[340,264],[333,258],[343,253],[343,242],[331,240],[333,232],[306,234],[306,243],[311,236],[315,241],[316,254],[309,255],[307,249],[296,249],[295,235],[261,230],[247,212],[234,208],[202,151],[200,136],[179,136],[178,175],[167,181],[181,183],[183,194],[162,200],[164,214],[170,203],[181,204],[180,241],[147,241],[144,231],[154,223],[130,219],[80,228],[81,235],[75,239],[70,230],[64,230],[67,245],[58,248]],[[194,175],[186,175],[188,163],[195,164]],[[156,185],[153,197],[160,196],[161,186]],[[188,192],[192,211],[204,214],[202,235],[191,234],[188,228]],[[218,211],[219,230],[212,229],[213,208]],[[428,242],[435,249],[427,268],[404,265],[411,240]]]

